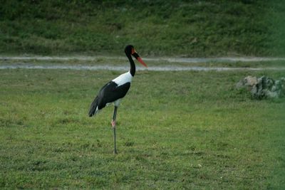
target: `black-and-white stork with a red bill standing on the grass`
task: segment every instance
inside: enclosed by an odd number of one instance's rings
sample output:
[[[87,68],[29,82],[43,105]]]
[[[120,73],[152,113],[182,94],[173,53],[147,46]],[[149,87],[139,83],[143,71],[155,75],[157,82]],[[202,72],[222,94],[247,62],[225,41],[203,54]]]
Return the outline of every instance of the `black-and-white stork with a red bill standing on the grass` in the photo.
[[[133,77],[135,76],[135,62],[132,56],[138,60],[143,66],[147,68],[145,62],[140,58],[138,53],[135,51],[134,46],[128,45],[125,47],[125,56],[127,56],[130,61],[130,70],[122,75],[119,75],[117,78],[110,80],[106,83],[99,91],[98,95],[95,96],[95,99],[90,105],[90,110],[88,113],[89,117],[95,116],[102,110],[106,105],[114,104],[113,119],[111,125],[113,128],[114,136],[114,154],[117,154],[116,149],[116,116],[117,110],[120,105],[120,101],[125,97],[130,89],[130,83],[132,83]]]

